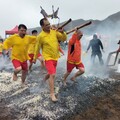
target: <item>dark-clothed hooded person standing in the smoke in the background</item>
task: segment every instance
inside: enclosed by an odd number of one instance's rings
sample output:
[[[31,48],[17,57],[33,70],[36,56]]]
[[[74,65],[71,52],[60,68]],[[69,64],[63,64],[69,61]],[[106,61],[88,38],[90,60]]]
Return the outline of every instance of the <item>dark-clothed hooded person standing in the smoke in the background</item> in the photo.
[[[101,48],[102,51],[104,52],[103,44],[102,44],[101,40],[98,39],[98,37],[97,37],[96,34],[94,34],[93,35],[93,39],[90,40],[86,53],[88,52],[88,50],[90,49],[90,47],[92,48],[92,54],[91,54],[92,63],[94,64],[95,57],[97,55],[98,58],[99,58],[100,64],[103,65],[104,62],[103,62],[102,53],[101,53],[101,50],[100,50],[100,48]]]

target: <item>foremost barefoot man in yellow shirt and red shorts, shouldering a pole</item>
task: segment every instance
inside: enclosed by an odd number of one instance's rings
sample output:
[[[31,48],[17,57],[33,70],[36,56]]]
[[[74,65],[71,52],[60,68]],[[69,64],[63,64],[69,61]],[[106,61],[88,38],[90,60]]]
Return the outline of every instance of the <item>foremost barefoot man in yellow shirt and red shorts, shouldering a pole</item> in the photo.
[[[40,20],[42,27],[41,33],[37,36],[37,43],[35,46],[34,62],[36,61],[40,48],[45,60],[45,67],[47,75],[45,80],[49,79],[50,97],[53,102],[57,101],[54,93],[54,79],[56,74],[57,60],[59,58],[59,44],[58,41],[65,41],[67,36],[63,29],[52,30],[49,21],[46,18]]]

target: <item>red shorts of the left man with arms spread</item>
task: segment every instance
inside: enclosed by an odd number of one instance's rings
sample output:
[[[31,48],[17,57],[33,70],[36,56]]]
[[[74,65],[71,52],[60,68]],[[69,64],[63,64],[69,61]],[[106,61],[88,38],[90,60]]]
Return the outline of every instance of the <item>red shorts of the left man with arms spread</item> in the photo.
[[[27,61],[20,62],[19,60],[12,60],[14,68],[22,67],[22,70],[28,70]]]

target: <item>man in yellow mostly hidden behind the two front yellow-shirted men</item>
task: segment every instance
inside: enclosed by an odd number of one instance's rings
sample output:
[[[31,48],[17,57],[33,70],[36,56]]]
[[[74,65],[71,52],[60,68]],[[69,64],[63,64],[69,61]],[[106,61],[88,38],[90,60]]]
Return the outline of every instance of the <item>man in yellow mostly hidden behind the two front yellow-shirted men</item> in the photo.
[[[38,34],[37,30],[33,30],[32,31],[32,35],[33,36],[37,36],[37,34]],[[32,44],[29,45],[29,49],[28,49],[28,55],[30,57],[30,60],[29,60],[29,62],[30,62],[29,70],[31,70],[31,67],[32,67],[32,64],[33,64],[32,61],[33,61],[33,57],[34,57],[34,50],[35,50],[35,43],[32,43]],[[38,53],[38,58],[37,59],[40,61],[41,66],[44,67],[43,57],[40,54],[40,52]]]

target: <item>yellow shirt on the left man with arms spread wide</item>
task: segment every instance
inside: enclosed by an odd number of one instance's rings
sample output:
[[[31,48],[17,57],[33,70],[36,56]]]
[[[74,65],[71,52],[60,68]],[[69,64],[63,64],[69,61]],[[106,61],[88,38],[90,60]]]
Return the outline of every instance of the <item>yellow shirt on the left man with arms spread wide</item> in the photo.
[[[3,43],[3,49],[8,50],[12,47],[11,59],[17,59],[24,62],[29,59],[28,47],[30,43],[35,43],[36,37],[25,35],[21,38],[18,34],[14,34],[7,38]]]

